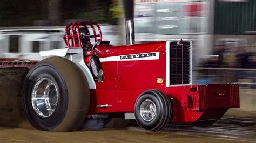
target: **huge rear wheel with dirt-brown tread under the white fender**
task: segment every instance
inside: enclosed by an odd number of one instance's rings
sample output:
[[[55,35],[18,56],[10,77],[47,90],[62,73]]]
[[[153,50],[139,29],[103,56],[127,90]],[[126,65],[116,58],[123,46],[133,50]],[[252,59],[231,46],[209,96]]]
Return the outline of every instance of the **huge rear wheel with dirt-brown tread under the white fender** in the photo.
[[[54,85],[52,90],[48,91],[49,99],[47,102],[39,100],[41,89],[35,90],[38,87],[36,85],[43,87],[43,83],[39,82],[40,80],[50,81]],[[38,93],[35,94],[35,91]],[[53,113],[45,113],[41,110],[41,104],[37,103],[48,104],[51,92],[52,95],[55,95],[56,101],[54,105],[49,104],[47,107],[51,109],[54,106],[55,110],[52,110]],[[32,95],[33,100],[37,95],[38,101],[32,102]],[[45,131],[78,130],[90,107],[89,84],[82,70],[72,61],[60,57],[45,59],[29,71],[25,78],[22,97],[26,117],[31,125]],[[43,108],[45,106],[43,105]]]

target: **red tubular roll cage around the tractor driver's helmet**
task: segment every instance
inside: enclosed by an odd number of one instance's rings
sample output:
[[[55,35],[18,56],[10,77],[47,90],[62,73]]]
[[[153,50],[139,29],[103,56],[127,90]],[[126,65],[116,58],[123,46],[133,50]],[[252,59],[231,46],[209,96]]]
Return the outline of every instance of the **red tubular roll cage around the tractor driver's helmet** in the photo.
[[[82,47],[80,34],[78,34],[80,32],[79,31],[80,26],[84,26],[87,29],[88,29],[87,26],[90,26],[92,28],[93,35],[90,34],[90,38],[94,38],[95,42],[98,40],[102,40],[102,31],[100,30],[100,27],[96,22],[70,23],[66,25],[65,35],[63,37],[66,43],[66,46],[68,46],[68,48]],[[98,28],[98,33],[96,33],[96,30],[95,30],[96,27]]]

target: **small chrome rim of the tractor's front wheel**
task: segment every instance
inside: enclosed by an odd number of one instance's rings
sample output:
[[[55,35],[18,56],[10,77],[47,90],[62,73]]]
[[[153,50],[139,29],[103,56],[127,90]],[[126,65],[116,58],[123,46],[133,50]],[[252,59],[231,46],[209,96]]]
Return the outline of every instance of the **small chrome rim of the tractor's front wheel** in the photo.
[[[139,112],[143,120],[151,121],[157,114],[156,104],[150,99],[146,99],[140,104]]]

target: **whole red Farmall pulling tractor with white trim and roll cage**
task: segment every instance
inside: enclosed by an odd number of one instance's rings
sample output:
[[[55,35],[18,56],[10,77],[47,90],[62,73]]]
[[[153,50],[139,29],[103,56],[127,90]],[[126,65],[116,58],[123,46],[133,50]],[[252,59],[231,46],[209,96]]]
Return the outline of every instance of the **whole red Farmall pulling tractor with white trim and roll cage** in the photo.
[[[66,48],[39,52],[47,57],[42,61],[1,62],[1,68],[29,69],[22,103],[33,127],[76,131],[86,120],[116,116],[136,119],[147,131],[168,123],[208,127],[239,108],[238,84],[192,85],[192,42],[134,44],[132,18],[126,17],[127,45],[102,40],[95,22],[71,23]],[[91,31],[90,49],[83,48],[80,28]]]

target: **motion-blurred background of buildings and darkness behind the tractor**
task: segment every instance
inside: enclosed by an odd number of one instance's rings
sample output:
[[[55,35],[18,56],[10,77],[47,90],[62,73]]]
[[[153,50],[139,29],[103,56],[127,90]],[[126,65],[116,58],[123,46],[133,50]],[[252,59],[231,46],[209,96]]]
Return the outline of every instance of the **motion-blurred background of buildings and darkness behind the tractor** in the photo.
[[[126,43],[118,0],[2,0],[0,58],[40,60],[39,51],[65,48],[65,25],[82,20],[98,22],[112,45]],[[193,41],[194,84],[256,89],[255,0],[135,0],[134,25],[137,44]]]

